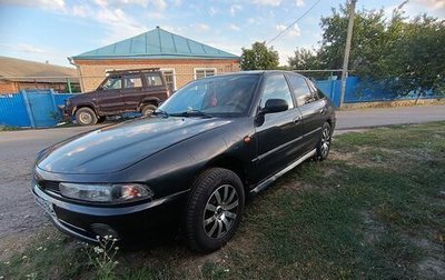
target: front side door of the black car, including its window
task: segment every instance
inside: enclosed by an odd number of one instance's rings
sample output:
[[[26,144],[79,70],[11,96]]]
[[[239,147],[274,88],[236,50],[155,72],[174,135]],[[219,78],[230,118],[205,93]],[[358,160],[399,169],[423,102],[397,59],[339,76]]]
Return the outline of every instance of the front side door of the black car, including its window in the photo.
[[[303,144],[301,113],[295,107],[289,86],[281,73],[269,73],[263,81],[259,110],[269,99],[284,99],[288,110],[259,114],[256,120],[257,181],[260,182],[298,159]]]

